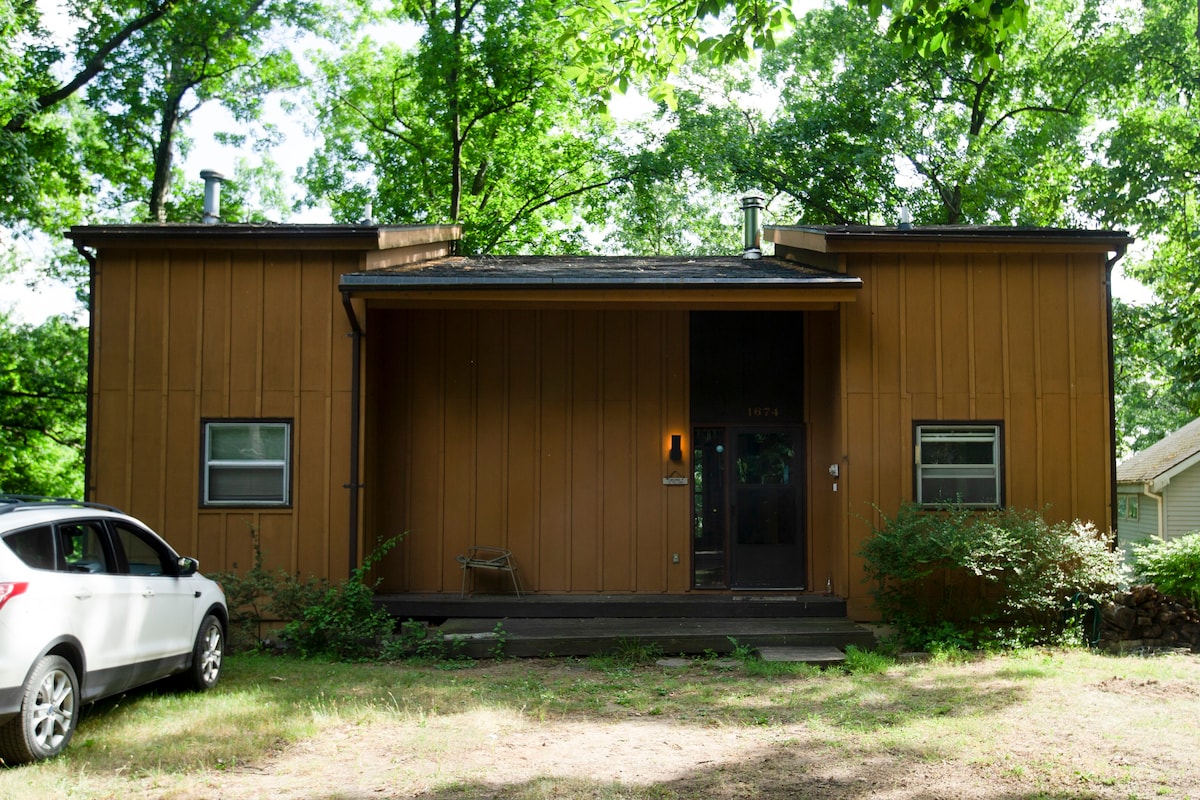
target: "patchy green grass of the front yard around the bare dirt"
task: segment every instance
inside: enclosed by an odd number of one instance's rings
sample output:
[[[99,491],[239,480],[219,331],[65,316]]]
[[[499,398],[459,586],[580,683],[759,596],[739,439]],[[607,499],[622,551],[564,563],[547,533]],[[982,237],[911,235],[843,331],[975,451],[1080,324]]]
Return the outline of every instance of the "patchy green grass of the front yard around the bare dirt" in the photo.
[[[734,668],[696,658],[683,668],[664,668],[618,660],[505,660],[472,662],[448,672],[428,663],[234,656],[227,661],[222,682],[208,694],[150,690],[91,706],[62,758],[0,769],[0,798],[206,796],[194,787],[347,728],[368,736],[378,735],[370,733],[376,730],[419,732],[437,721],[451,733],[436,746],[452,751],[467,746],[456,742],[481,735],[456,720],[478,720],[479,715],[520,726],[570,721],[599,728],[655,720],[671,730],[744,730],[745,736],[762,738],[763,747],[818,748],[823,759],[846,759],[847,769],[851,763],[860,769],[904,753],[929,763],[961,763],[988,775],[997,770],[1025,788],[1086,789],[1093,781],[1096,786],[1120,782],[1128,769],[1112,753],[1134,758],[1144,739],[1200,740],[1200,697],[1194,688],[1200,685],[1200,660],[1195,657],[1114,658],[1074,650],[1028,650],[913,664],[859,650],[844,669],[791,666],[768,670],[754,658]],[[1163,708],[1156,711],[1153,703],[1133,696],[1112,705],[1127,698],[1097,688],[1109,681],[1129,691],[1153,688],[1152,700]],[[1181,691],[1169,700],[1157,691],[1172,686]],[[1190,691],[1182,691],[1187,687]],[[1092,722],[1073,716],[1102,702],[1106,705]],[[1117,718],[1122,714],[1129,716]],[[454,734],[456,724],[464,727]],[[1109,727],[1080,728],[1098,724]],[[1030,756],[1031,741],[1039,736],[1061,741],[1063,732],[1103,741],[1106,756],[1084,763],[1067,758],[1061,748],[1044,757]],[[414,741],[418,748],[434,746],[425,739]],[[451,756],[438,758],[452,760]],[[415,763],[413,769],[421,762]],[[422,796],[467,798],[482,790],[463,783],[461,776],[439,780],[438,793]],[[740,780],[754,783],[760,778],[745,774]],[[1171,789],[1174,784],[1165,781]],[[766,783],[757,786],[760,790],[748,787],[746,792],[793,796],[772,794]],[[708,789],[689,795],[661,786],[614,792],[605,782],[580,776],[572,781],[544,776],[509,788],[496,796],[710,796]],[[493,794],[494,789],[488,796]],[[1168,794],[1188,796],[1187,792]],[[1024,789],[1001,795],[1037,796]],[[1120,796],[1136,795],[1130,789]],[[1085,790],[1045,796],[1110,795]]]

